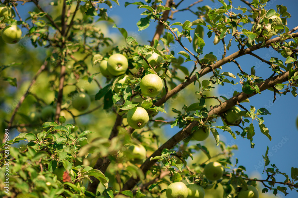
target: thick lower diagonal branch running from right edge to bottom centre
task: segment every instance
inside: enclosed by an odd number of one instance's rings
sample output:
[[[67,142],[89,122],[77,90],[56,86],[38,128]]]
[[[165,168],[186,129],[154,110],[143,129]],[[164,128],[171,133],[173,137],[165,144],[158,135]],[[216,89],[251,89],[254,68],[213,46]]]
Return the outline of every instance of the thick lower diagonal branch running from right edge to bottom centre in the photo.
[[[296,70],[298,71],[298,69],[296,69]],[[260,91],[264,91],[264,90],[274,86],[277,83],[283,83],[283,82],[287,81],[288,76],[289,76],[289,72],[285,72],[283,74],[280,74],[280,75],[274,76],[270,79],[267,79],[263,83],[258,83],[257,85],[260,88]],[[237,104],[237,102],[241,102],[249,97],[254,96],[255,94],[256,93],[245,94],[245,93],[241,92],[241,93],[235,95],[234,97],[230,98],[229,100],[226,100],[218,107],[215,107],[212,110],[210,110],[208,113],[209,114],[208,117],[211,115],[218,115],[220,113],[223,113],[226,110],[228,110],[229,108],[235,106]],[[184,129],[182,129],[181,131],[176,133],[173,137],[171,137],[169,140],[167,140],[167,142],[165,142],[161,147],[159,147],[150,157],[148,157],[147,160],[141,165],[140,169],[144,173],[146,173],[153,166],[153,164],[156,162],[156,160],[150,161],[151,157],[154,158],[155,156],[160,156],[163,149],[165,149],[165,148],[171,149],[177,143],[179,143],[181,140],[183,140],[186,137],[189,137],[191,135],[191,129],[197,125],[198,125],[198,121],[193,121],[192,123],[187,125]],[[133,177],[131,177],[124,184],[122,191],[131,190],[136,185],[136,183],[138,183],[138,181],[139,181],[139,178],[134,179]]]

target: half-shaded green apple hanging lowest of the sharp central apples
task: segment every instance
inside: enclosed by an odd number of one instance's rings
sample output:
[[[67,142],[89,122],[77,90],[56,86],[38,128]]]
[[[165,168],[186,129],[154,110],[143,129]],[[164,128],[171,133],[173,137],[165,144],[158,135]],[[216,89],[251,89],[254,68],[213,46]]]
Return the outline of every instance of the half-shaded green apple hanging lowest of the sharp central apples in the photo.
[[[147,111],[142,107],[134,107],[128,110],[127,123],[134,129],[142,129],[149,121]]]

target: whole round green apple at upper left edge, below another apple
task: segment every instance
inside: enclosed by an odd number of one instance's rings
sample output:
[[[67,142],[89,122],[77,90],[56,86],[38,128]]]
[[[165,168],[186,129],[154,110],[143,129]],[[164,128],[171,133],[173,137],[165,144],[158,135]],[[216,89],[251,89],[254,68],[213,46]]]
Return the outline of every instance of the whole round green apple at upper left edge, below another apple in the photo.
[[[9,44],[15,44],[19,42],[19,40],[21,39],[21,36],[22,36],[22,31],[16,25],[6,26],[1,32],[1,37],[3,41]]]

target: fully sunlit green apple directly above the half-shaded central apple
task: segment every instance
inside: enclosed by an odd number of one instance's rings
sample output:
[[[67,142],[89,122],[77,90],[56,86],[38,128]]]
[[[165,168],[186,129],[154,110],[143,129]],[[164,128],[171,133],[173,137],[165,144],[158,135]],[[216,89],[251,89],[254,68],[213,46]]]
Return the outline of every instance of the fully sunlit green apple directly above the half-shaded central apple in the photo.
[[[145,96],[157,96],[162,92],[162,79],[156,74],[145,75],[141,80],[140,87]]]

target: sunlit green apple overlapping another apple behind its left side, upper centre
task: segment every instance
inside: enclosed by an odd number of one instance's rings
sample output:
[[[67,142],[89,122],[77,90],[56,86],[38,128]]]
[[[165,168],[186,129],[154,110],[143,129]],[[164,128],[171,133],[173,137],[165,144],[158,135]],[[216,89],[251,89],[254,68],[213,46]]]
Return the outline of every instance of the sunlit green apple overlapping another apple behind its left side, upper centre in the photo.
[[[126,72],[128,68],[128,61],[122,54],[113,54],[108,58],[108,71],[114,75],[119,76]]]

